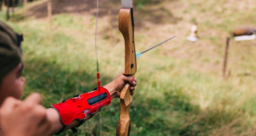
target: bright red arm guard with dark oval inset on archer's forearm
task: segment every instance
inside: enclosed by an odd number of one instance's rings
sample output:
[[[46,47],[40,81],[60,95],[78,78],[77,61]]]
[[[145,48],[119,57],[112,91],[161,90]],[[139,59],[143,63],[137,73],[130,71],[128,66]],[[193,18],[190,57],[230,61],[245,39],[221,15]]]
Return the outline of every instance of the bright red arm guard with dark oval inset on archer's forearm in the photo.
[[[75,119],[84,120],[87,114],[94,115],[99,108],[109,105],[110,102],[111,96],[108,90],[100,87],[62,103],[53,104],[51,107],[58,111],[62,123],[68,125]]]

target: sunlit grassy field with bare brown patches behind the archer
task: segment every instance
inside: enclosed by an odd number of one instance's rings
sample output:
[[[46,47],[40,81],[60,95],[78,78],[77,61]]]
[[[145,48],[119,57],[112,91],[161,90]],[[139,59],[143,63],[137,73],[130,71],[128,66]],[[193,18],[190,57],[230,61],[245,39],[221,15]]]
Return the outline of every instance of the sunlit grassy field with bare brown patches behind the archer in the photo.
[[[226,80],[221,71],[226,37],[239,25],[256,27],[256,2],[134,2],[136,51],[177,37],[137,58],[131,135],[256,135],[256,40],[231,40]],[[45,1],[20,8],[10,18],[7,23],[25,39],[23,98],[39,92],[43,105],[49,107],[95,88],[95,4],[95,0],[53,0],[52,31]],[[121,1],[100,1],[97,46],[102,85],[124,69],[120,7]],[[0,14],[5,20],[5,12]],[[192,43],[185,37],[194,21],[200,39]],[[102,109],[104,136],[115,135],[119,110],[118,99]],[[80,126],[78,133],[60,135],[91,134],[99,135],[98,115]]]

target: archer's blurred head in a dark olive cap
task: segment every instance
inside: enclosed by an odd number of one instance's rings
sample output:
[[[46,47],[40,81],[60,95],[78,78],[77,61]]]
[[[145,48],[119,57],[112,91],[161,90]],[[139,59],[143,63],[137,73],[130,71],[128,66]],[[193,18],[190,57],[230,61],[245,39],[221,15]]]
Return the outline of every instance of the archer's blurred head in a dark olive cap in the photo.
[[[22,77],[22,37],[0,21],[0,105],[8,96],[20,99],[25,78]]]

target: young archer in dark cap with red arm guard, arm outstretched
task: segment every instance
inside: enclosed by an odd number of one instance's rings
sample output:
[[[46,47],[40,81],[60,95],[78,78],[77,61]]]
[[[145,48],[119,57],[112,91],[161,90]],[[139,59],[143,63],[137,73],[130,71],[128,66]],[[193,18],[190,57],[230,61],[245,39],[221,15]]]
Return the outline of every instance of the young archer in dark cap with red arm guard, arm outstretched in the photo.
[[[24,101],[20,98],[25,85],[22,76],[22,37],[0,21],[0,136],[46,136],[67,129],[76,131],[83,122],[94,116],[111,99],[120,97],[125,82],[131,85],[131,95],[136,78],[119,75],[107,85],[92,92],[77,95],[51,108],[40,105],[38,93]]]

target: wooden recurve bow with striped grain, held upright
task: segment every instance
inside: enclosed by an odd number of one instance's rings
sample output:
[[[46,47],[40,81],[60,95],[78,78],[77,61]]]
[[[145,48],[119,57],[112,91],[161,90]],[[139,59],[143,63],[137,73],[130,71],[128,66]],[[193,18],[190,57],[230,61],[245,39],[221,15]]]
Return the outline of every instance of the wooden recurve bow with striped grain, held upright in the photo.
[[[136,53],[134,44],[134,17],[132,0],[122,0],[122,8],[119,12],[119,31],[125,39],[125,70],[123,74],[134,77],[136,65]],[[132,97],[130,93],[130,85],[125,83],[120,93],[120,118],[116,126],[117,136],[129,136],[131,130],[130,107]]]

